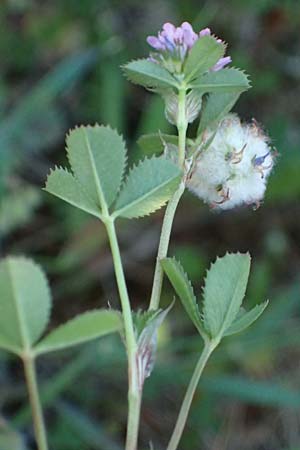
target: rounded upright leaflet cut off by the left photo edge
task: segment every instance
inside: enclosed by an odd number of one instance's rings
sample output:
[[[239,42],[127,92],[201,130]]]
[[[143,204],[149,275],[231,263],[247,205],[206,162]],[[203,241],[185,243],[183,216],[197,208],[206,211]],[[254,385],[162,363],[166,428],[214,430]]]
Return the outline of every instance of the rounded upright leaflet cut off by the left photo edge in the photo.
[[[44,332],[51,308],[47,279],[38,265],[22,257],[0,263],[0,347],[20,353]]]

